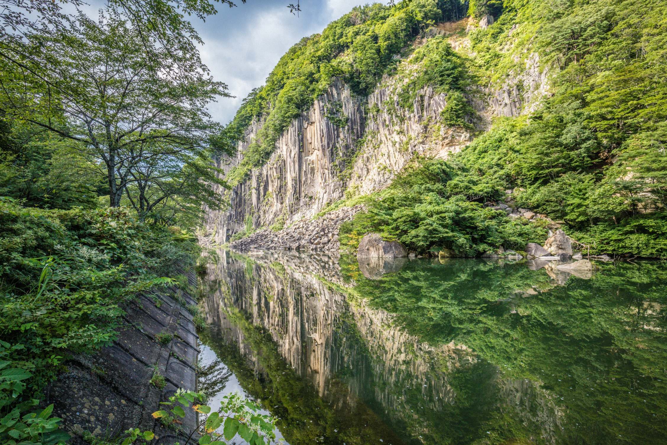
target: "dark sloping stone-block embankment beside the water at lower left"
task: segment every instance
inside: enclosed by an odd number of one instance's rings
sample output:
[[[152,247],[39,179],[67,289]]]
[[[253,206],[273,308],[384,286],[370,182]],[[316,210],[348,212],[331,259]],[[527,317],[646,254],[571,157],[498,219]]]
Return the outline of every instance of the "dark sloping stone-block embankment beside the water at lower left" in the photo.
[[[187,278],[196,286],[194,273]],[[54,404],[53,415],[63,419],[71,444],[85,444],[86,432],[109,440],[130,428],[155,432],[153,445],[185,444],[183,432],[187,436],[195,428],[195,412],[186,410],[178,428],[165,428],[151,414],[178,388],[197,388],[199,337],[184,306],[196,304],[176,286],[142,295],[125,307],[113,344],[65,362],[65,371],[46,390],[45,404]]]

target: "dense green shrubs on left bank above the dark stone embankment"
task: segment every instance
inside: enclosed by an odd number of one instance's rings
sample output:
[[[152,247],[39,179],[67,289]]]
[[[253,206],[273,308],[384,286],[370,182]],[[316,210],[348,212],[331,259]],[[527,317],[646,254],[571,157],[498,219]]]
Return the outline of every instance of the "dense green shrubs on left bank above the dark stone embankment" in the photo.
[[[178,256],[163,254],[178,239],[122,207],[47,210],[0,199],[0,360],[15,377],[0,385],[0,415],[39,398],[69,354],[113,341],[125,302],[171,284],[154,271],[173,269]]]

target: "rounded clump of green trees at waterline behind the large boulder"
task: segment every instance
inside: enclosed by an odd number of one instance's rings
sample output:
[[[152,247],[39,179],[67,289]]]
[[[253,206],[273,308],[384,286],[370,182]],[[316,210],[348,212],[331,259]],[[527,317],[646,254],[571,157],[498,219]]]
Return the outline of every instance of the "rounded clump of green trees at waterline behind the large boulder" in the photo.
[[[451,178],[458,175],[446,161],[418,160],[370,201],[368,211],[341,226],[341,243],[356,248],[364,234],[378,232],[402,242],[408,250],[426,252],[441,246],[456,256],[474,257],[501,244],[524,250],[528,242],[546,238],[544,229],[511,221],[504,211],[470,200],[466,192],[479,185],[470,184],[472,179],[467,179],[467,187],[461,180],[454,182]]]

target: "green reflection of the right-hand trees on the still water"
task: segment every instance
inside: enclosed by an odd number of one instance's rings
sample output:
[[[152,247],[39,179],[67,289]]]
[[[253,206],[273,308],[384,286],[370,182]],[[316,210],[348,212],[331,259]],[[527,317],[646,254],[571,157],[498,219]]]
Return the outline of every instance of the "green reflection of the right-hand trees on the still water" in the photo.
[[[523,264],[480,260],[420,262],[381,280],[354,278],[351,296],[392,312],[411,334],[434,345],[465,344],[500,368],[506,406],[512,382],[538,382],[563,413],[556,428],[563,430],[554,431],[563,442],[667,441],[664,264],[603,266],[591,280],[571,277],[564,286]],[[466,396],[458,374],[451,382],[459,386],[457,402],[474,402],[468,397],[475,391]],[[516,420],[510,413],[492,412],[485,428],[494,434],[492,420]],[[539,412],[522,416],[540,423]]]

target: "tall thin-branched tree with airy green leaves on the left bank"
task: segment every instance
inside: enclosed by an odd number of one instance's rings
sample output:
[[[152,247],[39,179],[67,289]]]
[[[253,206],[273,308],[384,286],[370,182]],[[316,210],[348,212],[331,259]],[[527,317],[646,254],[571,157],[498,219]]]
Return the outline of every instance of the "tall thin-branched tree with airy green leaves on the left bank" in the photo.
[[[26,37],[29,54],[14,61],[20,69],[2,67],[2,111],[77,141],[73,149],[104,165],[112,207],[145,179],[145,165],[184,167],[231,149],[217,143],[221,127],[206,109],[229,97],[227,86],[211,79],[196,51],[157,39],[147,50],[141,31],[113,9],[98,22],[79,14],[68,29]]]

